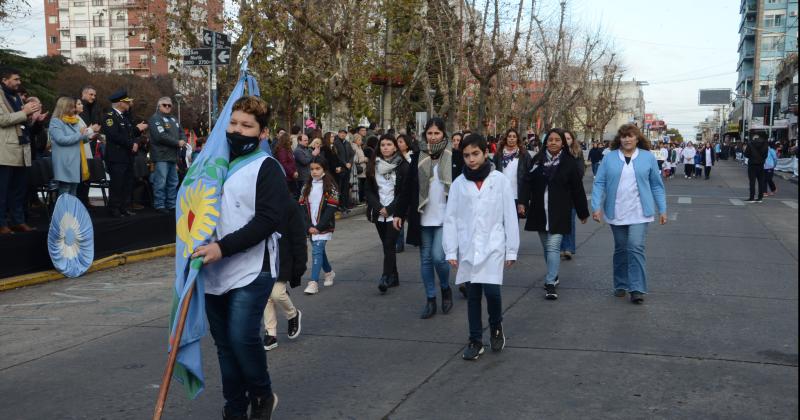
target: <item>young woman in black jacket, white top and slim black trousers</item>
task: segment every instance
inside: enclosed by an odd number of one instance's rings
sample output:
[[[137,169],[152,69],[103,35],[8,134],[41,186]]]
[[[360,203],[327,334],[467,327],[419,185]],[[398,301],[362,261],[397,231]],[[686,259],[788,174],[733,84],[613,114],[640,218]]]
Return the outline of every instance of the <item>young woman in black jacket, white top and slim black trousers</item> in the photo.
[[[375,223],[383,244],[383,274],[378,290],[386,293],[399,285],[395,246],[399,231],[394,229],[397,214],[397,197],[402,194],[408,179],[408,162],[399,152],[397,140],[391,135],[381,136],[376,153],[367,163],[367,216]]]

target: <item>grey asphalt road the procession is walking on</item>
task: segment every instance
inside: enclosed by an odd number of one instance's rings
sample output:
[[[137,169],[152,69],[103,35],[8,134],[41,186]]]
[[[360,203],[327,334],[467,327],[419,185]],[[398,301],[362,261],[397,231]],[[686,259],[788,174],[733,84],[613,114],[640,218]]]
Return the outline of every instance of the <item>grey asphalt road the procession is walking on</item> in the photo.
[[[380,296],[377,234],[341,220],[328,246],[336,284],[292,293],[294,341],[279,324],[269,366],[278,419],[787,419],[798,417],[798,189],[747,204],[745,171],[667,182],[670,222],[648,237],[650,294],[614,298],[608,226],[578,227],[545,301],[542,249],[522,233],[503,287],[507,347],[477,362],[466,302],[420,320],[419,254]],[[586,180],[587,189],[591,179]],[[0,419],[146,419],[166,361],[172,260],[0,293]],[[488,342],[488,337],[486,339]],[[221,418],[210,336],[206,390],[173,383],[165,419]]]

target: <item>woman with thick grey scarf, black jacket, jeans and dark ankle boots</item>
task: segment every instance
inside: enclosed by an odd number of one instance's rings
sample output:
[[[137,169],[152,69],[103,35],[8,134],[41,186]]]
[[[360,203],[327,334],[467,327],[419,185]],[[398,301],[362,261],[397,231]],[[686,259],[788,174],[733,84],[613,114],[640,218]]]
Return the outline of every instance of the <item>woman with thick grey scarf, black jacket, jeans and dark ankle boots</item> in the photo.
[[[447,140],[443,119],[431,118],[425,125],[425,141],[419,145],[419,153],[412,156],[409,180],[410,187],[399,197],[396,216],[397,230],[408,219],[406,242],[420,245],[422,283],[427,298],[420,317],[428,319],[436,314],[436,281],[442,292],[442,313],[453,308],[453,291],[450,289],[450,265],[442,249],[442,225],[450,185],[455,178],[453,156]],[[405,217],[404,217],[405,216]]]

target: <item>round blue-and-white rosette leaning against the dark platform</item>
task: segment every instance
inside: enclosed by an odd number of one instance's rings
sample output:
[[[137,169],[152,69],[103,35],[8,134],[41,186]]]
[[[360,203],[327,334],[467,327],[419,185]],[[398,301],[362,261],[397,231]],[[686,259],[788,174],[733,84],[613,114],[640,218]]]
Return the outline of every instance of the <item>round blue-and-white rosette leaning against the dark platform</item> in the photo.
[[[94,261],[94,228],[86,207],[75,196],[61,194],[56,201],[47,250],[53,267],[67,277],[85,273]]]

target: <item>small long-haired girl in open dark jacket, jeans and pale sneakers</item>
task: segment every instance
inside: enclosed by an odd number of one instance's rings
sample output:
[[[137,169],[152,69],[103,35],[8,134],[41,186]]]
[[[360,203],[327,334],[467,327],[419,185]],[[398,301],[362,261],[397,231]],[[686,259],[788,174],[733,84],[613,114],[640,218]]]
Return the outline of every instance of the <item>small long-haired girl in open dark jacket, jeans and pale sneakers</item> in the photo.
[[[319,272],[325,273],[324,286],[333,286],[336,273],[328,261],[325,245],[333,238],[336,226],[336,211],[339,208],[339,192],[336,181],[327,172],[325,158],[315,156],[309,164],[311,182],[303,187],[300,205],[305,207],[306,226],[311,235],[311,280],[303,292],[315,295],[319,292]]]

